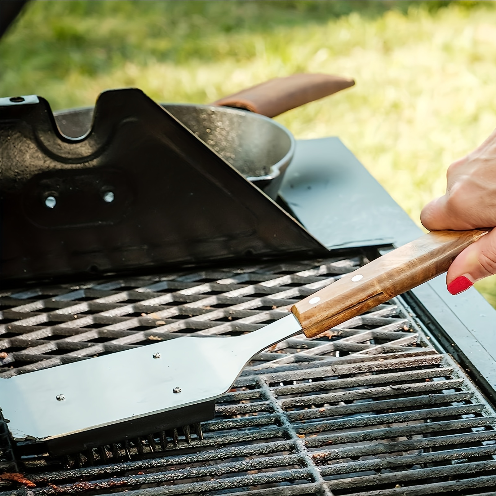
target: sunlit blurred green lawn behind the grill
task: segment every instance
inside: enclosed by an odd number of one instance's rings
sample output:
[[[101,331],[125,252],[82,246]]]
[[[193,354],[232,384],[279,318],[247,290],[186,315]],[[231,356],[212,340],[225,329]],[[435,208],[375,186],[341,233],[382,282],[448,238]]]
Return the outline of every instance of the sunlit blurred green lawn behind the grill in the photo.
[[[135,86],[209,103],[295,72],[356,86],[277,120],[337,135],[420,225],[448,165],[496,127],[494,1],[31,1],[0,41],[0,95],[54,110]],[[477,288],[496,307],[496,279]]]

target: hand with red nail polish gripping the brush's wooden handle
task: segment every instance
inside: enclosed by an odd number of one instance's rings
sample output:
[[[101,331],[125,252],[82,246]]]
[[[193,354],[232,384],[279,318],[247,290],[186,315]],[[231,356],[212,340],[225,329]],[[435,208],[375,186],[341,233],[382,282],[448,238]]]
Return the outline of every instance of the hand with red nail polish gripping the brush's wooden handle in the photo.
[[[423,208],[420,220],[430,231],[496,226],[496,129],[482,145],[449,166],[446,193]],[[493,274],[496,229],[455,258],[446,275],[448,291],[456,295]]]

